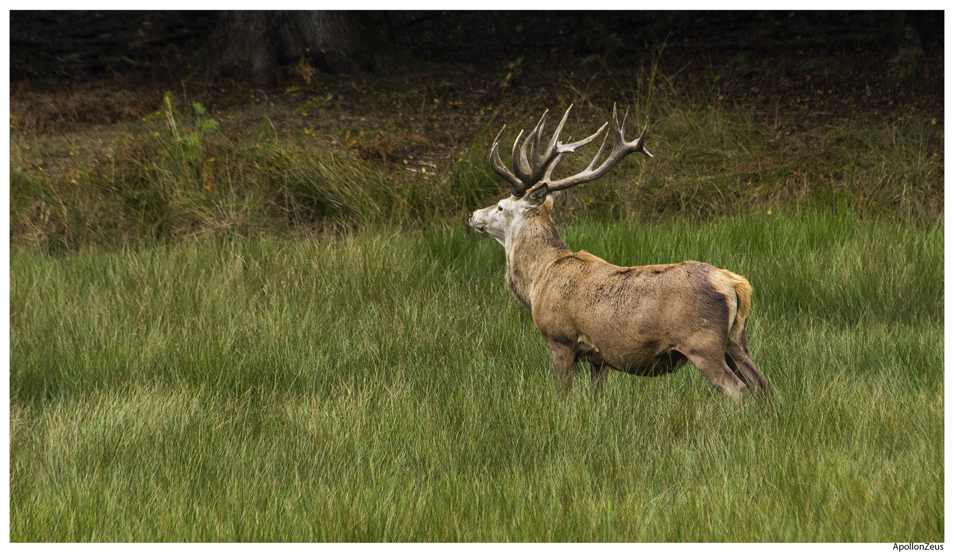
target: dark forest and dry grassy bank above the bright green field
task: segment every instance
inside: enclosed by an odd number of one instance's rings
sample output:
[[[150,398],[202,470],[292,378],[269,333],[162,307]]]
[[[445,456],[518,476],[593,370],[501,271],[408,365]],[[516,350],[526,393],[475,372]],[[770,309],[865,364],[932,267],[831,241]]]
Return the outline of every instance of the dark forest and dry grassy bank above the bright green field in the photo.
[[[566,215],[944,213],[941,11],[22,10],[10,78],[11,235],[57,248],[455,225],[570,105],[655,157]]]

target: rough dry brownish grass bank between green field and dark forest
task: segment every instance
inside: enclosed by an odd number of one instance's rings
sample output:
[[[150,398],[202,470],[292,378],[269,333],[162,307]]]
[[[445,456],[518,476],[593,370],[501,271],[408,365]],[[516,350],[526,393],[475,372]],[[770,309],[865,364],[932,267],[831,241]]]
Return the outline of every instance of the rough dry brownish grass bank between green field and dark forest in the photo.
[[[651,66],[514,79],[437,67],[313,76],[282,92],[193,78],[181,83],[175,131],[161,90],[87,83],[41,92],[21,83],[11,97],[11,239],[74,249],[453,224],[504,193],[486,162],[500,126],[529,128],[544,109],[572,103],[564,135],[579,136],[607,120],[614,102],[632,109],[631,134],[649,117],[655,157],[627,159],[603,181],[563,194],[569,215],[705,217],[813,203],[940,223],[943,112],[939,121],[899,107],[885,119],[873,115],[880,106],[853,111],[849,94],[847,111],[821,116],[782,107],[783,91],[741,93],[739,74],[755,71],[743,70],[734,60],[685,74]],[[788,80],[807,83],[805,72]],[[819,109],[833,101],[825,94]],[[198,130],[193,102],[217,129]]]

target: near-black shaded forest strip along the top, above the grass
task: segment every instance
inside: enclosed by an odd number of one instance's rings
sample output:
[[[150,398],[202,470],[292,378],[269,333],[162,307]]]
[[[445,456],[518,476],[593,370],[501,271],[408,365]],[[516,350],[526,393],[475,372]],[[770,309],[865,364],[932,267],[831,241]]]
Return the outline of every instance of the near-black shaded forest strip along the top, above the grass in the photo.
[[[326,72],[410,55],[495,67],[518,55],[626,65],[675,55],[943,51],[942,11],[33,11],[10,12],[10,71],[76,77],[151,68],[274,82],[302,56]],[[800,51],[801,53],[798,53]],[[163,76],[157,74],[157,77]]]

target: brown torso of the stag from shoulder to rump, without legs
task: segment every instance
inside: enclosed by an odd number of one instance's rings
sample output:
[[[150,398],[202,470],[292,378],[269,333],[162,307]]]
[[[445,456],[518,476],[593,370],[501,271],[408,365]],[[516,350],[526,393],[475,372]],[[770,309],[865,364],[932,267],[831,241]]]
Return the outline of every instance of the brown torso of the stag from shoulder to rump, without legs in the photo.
[[[529,306],[547,341],[572,347],[574,361],[649,377],[741,335],[751,294],[745,278],[706,263],[618,267],[586,252],[557,258],[542,280]]]

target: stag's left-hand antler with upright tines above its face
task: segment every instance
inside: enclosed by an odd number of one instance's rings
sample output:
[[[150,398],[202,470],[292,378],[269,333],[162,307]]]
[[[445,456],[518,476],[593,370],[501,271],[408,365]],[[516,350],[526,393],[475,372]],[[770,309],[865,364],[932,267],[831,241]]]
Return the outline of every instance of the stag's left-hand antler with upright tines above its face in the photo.
[[[520,131],[520,133],[517,134],[517,139],[513,141],[513,150],[510,154],[513,164],[513,173],[510,173],[507,166],[504,165],[504,162],[500,159],[500,136],[504,133],[504,130],[507,129],[507,126],[505,125],[504,128],[500,130],[500,133],[497,134],[497,137],[493,139],[493,147],[490,149],[490,166],[493,167],[494,172],[500,174],[508,181],[515,197],[522,197],[530,188],[539,183],[541,179],[548,180],[552,167],[556,165],[560,155],[570,153],[580,146],[589,144],[606,128],[604,124],[600,130],[587,138],[571,144],[561,144],[558,141],[560,131],[563,130],[563,125],[567,122],[567,117],[570,116],[570,110],[572,108],[572,105],[567,108],[567,112],[563,115],[563,120],[560,121],[559,126],[556,127],[556,132],[553,133],[553,136],[550,138],[550,144],[547,146],[547,150],[542,154],[540,153],[540,141],[543,138],[544,123],[547,120],[549,110],[543,113],[543,116],[540,117],[540,122],[537,123],[537,126],[527,135],[523,145],[520,146],[519,156],[517,154],[517,145],[520,143],[520,136],[522,136],[524,132]],[[613,111],[615,112],[615,108]],[[527,147],[531,140],[533,149],[528,159]],[[604,140],[604,144],[605,142]],[[600,152],[602,153],[602,149]],[[572,184],[570,184],[570,186],[571,185]]]

